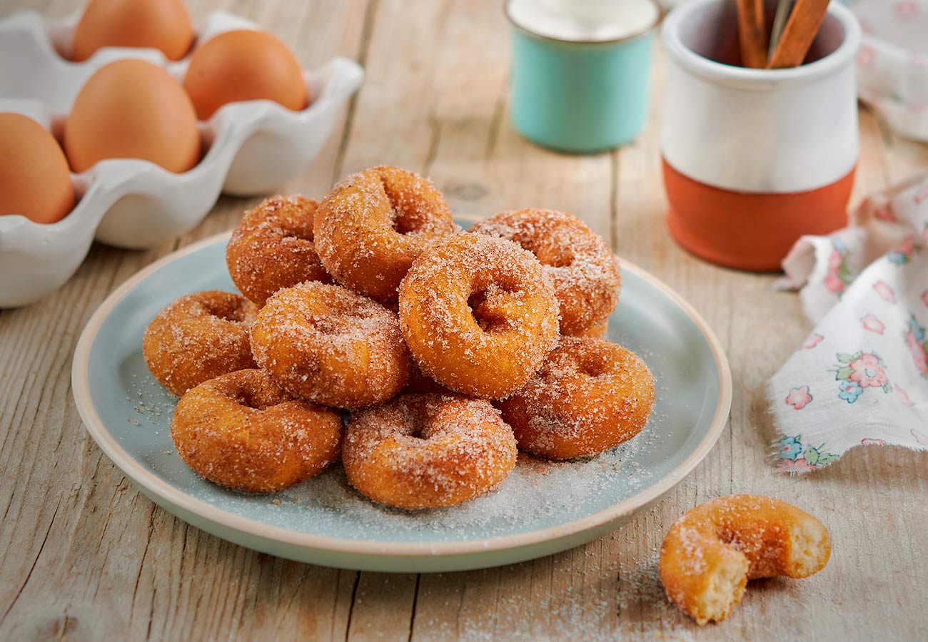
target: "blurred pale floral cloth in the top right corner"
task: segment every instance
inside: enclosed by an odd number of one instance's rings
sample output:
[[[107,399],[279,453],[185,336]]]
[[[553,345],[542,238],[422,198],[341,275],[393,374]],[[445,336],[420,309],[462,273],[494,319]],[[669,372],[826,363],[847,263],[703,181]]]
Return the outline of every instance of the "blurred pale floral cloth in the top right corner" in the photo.
[[[844,0],[863,30],[857,94],[901,135],[928,140],[928,0]]]

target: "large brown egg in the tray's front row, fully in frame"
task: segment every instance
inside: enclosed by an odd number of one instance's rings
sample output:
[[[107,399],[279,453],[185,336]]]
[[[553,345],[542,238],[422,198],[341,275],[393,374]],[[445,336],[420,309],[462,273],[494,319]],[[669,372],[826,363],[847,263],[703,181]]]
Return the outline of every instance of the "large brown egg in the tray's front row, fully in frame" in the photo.
[[[117,60],[81,88],[65,123],[71,169],[98,160],[145,159],[187,172],[200,159],[197,115],[180,83],[144,60]]]

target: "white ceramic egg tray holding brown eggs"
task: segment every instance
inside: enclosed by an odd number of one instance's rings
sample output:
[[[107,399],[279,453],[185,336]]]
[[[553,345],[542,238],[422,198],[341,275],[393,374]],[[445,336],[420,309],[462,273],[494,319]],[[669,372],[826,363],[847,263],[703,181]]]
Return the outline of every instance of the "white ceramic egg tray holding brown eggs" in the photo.
[[[66,56],[78,18],[22,12],[0,20],[0,111],[21,113],[59,133],[81,87],[113,60],[148,60],[183,79],[188,58],[170,61],[155,49],[106,47],[71,62]],[[199,40],[236,29],[257,26],[215,11],[198,30]],[[168,172],[148,160],[101,160],[71,174],[79,200],[58,223],[0,216],[0,307],[25,305],[58,289],[95,238],[119,248],[152,248],[197,225],[221,192],[264,194],[302,172],[361,86],[364,71],[354,60],[332,58],[303,78],[311,103],[302,111],[250,100],[227,104],[200,122],[205,153],[188,172]]]

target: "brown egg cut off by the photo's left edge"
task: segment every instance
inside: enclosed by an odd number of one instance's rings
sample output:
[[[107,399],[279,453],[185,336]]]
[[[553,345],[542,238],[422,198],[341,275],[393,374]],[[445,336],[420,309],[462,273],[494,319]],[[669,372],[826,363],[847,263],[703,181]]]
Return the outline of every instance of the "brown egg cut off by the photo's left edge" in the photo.
[[[74,207],[68,160],[38,122],[0,113],[0,215],[55,223]]]

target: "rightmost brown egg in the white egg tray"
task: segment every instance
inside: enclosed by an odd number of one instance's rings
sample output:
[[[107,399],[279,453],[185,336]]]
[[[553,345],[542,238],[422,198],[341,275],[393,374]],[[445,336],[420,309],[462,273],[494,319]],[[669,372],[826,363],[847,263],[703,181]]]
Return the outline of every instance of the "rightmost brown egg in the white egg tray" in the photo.
[[[270,33],[225,32],[193,51],[184,78],[201,121],[239,100],[274,100],[298,111],[309,102],[296,57]]]

